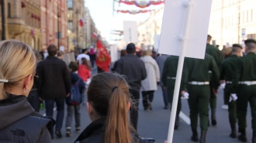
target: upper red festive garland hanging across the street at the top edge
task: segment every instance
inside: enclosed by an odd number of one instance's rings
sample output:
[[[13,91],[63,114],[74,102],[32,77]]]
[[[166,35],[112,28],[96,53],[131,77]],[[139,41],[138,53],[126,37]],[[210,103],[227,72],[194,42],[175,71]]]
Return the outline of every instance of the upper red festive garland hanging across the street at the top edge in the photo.
[[[136,5],[139,8],[147,8],[150,5],[161,5],[164,4],[164,1],[126,1],[126,0],[119,0],[119,3],[124,3],[126,5]]]

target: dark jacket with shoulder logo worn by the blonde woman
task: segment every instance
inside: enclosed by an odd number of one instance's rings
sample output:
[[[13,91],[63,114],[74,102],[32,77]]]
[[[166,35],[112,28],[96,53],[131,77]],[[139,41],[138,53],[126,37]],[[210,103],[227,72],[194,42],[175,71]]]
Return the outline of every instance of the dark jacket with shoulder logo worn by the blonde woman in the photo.
[[[1,143],[50,143],[54,123],[37,114],[23,95],[0,100]]]

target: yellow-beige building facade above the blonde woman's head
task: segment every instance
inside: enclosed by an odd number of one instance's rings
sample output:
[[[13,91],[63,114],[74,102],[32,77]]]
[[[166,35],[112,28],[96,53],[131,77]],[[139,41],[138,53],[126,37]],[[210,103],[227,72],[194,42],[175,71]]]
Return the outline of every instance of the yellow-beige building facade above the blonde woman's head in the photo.
[[[40,1],[4,0],[4,3],[5,39],[17,39],[40,49]],[[2,32],[2,19],[0,23]]]

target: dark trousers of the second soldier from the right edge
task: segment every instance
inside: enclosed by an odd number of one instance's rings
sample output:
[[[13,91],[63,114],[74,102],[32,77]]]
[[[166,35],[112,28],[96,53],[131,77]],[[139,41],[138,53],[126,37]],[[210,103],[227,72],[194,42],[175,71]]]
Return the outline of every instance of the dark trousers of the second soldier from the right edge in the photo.
[[[224,100],[225,103],[228,105],[228,117],[230,121],[230,125],[237,124],[237,101],[230,100],[230,88],[232,88],[231,84],[226,84],[226,87],[224,89]]]

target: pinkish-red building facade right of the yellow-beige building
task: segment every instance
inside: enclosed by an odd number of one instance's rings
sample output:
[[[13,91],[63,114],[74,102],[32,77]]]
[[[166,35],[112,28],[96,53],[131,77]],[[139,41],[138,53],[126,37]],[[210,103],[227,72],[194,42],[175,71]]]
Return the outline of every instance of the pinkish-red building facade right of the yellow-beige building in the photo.
[[[37,2],[32,0],[33,2]],[[42,48],[50,44],[67,48],[67,2],[66,0],[41,0]]]

